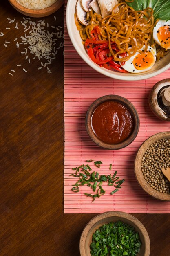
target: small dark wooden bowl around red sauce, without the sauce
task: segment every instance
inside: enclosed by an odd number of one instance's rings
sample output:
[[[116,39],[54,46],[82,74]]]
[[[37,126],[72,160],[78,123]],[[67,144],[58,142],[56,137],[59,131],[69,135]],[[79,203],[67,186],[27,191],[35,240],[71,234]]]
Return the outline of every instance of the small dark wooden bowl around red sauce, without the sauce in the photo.
[[[134,121],[134,129],[131,133],[131,135],[125,140],[122,141],[121,143],[118,144],[108,144],[96,137],[94,134],[92,127],[91,127],[91,117],[93,115],[94,110],[99,106],[101,103],[104,103],[105,101],[118,101],[124,106],[130,110],[130,113],[132,114],[133,121]],[[88,108],[88,111],[86,113],[86,119],[85,119],[85,125],[86,125],[86,130],[88,132],[88,135],[91,137],[91,139],[100,147],[110,149],[110,150],[118,150],[121,148],[125,148],[128,146],[134,139],[137,137],[137,134],[139,132],[139,127],[140,127],[140,119],[138,112],[136,108],[133,106],[133,104],[128,101],[128,99],[125,99],[124,97],[121,97],[119,95],[106,95],[103,97],[100,97],[99,99],[95,100],[91,106]]]

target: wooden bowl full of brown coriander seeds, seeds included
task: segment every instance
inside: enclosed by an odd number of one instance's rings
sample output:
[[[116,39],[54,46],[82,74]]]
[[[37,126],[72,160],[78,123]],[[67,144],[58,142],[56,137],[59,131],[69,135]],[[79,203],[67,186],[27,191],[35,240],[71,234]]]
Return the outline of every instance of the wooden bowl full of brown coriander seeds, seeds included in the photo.
[[[154,198],[170,201],[170,182],[161,169],[170,167],[170,132],[148,138],[135,158],[135,176],[139,185]]]

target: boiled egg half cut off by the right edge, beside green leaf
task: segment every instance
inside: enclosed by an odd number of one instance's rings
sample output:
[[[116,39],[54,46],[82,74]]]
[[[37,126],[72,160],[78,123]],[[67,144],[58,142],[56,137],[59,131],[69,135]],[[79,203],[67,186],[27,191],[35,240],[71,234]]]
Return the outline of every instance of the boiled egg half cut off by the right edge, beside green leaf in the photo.
[[[153,39],[158,45],[170,49],[170,20],[159,20],[153,29]]]

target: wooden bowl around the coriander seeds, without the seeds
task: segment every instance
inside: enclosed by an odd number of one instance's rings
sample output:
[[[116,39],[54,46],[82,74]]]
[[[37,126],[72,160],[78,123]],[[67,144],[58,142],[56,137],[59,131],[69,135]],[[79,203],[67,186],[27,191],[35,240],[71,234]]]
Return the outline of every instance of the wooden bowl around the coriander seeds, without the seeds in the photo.
[[[148,138],[139,148],[135,158],[135,166],[134,166],[136,179],[139,185],[142,187],[142,189],[144,189],[144,191],[149,195],[151,195],[152,197],[157,198],[159,200],[164,200],[164,201],[170,201],[170,194],[158,192],[157,190],[152,189],[152,187],[149,186],[149,184],[144,179],[144,175],[141,171],[141,162],[142,162],[144,153],[152,143],[160,139],[169,139],[169,138],[170,138],[170,132],[160,132]]]

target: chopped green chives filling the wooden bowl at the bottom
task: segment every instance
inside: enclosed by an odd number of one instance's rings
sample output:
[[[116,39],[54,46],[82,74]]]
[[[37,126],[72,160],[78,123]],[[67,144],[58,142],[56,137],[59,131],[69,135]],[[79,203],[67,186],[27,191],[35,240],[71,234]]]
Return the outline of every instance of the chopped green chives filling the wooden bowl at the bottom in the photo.
[[[91,256],[136,256],[141,241],[134,227],[118,220],[99,227],[93,234]]]

